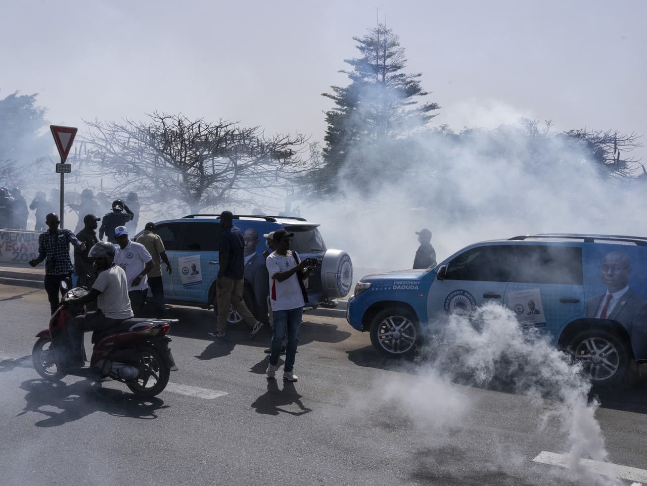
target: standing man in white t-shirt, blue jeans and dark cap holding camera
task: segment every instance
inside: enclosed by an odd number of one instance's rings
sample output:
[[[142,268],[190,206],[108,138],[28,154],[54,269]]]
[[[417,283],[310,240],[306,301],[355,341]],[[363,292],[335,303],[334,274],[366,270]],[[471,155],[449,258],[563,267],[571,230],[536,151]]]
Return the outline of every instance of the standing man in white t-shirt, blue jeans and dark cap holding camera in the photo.
[[[299,344],[299,330],[303,306],[307,302],[305,286],[302,279],[307,279],[315,268],[316,262],[308,259],[300,260],[299,255],[290,251],[291,239],[294,233],[285,229],[274,231],[274,253],[267,257],[267,271],[270,275],[270,305],[272,306],[272,344],[270,359],[267,365],[267,377],[274,378],[279,365],[281,342],[287,334],[285,350],[285,367],[283,379],[297,381],[294,374],[294,359],[296,346]]]

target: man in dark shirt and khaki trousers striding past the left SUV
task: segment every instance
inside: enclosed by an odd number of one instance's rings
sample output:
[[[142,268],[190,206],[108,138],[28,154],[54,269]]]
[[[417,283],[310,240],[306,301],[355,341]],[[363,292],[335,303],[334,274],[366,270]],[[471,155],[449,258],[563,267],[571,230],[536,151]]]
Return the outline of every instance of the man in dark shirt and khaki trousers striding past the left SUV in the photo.
[[[245,257],[243,251],[243,233],[234,226],[234,215],[231,211],[223,211],[220,215],[219,263],[216,277],[215,300],[218,317],[215,323],[215,332],[208,333],[209,337],[226,339],[227,316],[230,306],[240,314],[245,324],[252,328],[252,336],[263,327],[263,323],[256,321],[254,315],[243,301],[243,288],[245,288]]]

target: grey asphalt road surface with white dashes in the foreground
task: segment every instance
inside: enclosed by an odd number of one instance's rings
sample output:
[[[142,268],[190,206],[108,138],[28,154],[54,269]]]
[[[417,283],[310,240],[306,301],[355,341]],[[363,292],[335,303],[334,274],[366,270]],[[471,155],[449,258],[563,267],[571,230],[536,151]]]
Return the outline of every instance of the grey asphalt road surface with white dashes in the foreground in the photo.
[[[39,379],[30,352],[48,309],[42,290],[0,285],[3,485],[592,484],[586,467],[533,461],[567,452],[560,404],[383,361],[343,308],[305,315],[295,384],[265,379],[269,333],[234,326],[214,342],[212,312],[173,308],[180,370],[148,400],[115,382]],[[611,463],[647,469],[646,390],[600,396]]]

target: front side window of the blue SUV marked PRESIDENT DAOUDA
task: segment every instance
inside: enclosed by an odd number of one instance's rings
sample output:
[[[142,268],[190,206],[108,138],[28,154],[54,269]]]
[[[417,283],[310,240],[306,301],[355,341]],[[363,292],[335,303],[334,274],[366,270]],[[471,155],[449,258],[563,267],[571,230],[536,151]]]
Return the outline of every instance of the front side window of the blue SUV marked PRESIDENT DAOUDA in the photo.
[[[479,246],[455,257],[447,265],[447,280],[509,282],[512,246]]]

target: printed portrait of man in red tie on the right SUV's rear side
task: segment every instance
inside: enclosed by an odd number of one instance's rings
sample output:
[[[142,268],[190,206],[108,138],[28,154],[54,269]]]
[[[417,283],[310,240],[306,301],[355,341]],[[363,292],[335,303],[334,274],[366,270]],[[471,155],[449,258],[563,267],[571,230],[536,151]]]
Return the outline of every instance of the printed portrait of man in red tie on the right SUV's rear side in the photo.
[[[631,261],[624,251],[609,251],[600,264],[600,278],[606,292],[586,302],[586,317],[618,321],[631,329],[633,324],[646,325],[647,301],[629,286]]]

